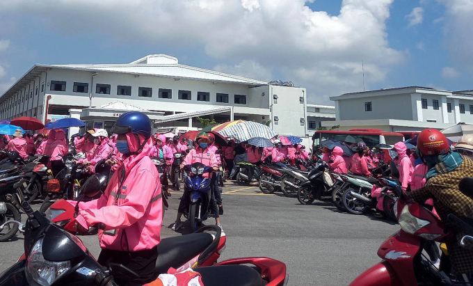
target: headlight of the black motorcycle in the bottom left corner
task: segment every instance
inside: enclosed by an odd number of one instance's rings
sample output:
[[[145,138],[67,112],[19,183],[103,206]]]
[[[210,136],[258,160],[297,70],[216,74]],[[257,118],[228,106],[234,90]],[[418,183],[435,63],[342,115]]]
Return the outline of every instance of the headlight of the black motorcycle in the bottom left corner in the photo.
[[[31,248],[26,259],[26,280],[30,285],[49,286],[71,268],[70,261],[52,262],[42,255],[42,238]]]

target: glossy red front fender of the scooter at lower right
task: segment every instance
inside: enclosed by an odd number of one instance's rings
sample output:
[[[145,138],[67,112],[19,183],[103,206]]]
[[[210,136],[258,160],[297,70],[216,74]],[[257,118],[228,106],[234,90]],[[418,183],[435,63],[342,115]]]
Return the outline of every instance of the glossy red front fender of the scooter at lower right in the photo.
[[[402,285],[394,269],[386,261],[375,264],[361,273],[350,286],[398,286]]]

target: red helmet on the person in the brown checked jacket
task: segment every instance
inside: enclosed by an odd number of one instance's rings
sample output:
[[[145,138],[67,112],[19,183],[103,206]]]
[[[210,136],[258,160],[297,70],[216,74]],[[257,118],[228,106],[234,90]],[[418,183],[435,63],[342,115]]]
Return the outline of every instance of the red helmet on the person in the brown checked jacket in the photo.
[[[437,129],[424,129],[417,137],[417,149],[424,156],[447,154],[449,142],[442,132]]]

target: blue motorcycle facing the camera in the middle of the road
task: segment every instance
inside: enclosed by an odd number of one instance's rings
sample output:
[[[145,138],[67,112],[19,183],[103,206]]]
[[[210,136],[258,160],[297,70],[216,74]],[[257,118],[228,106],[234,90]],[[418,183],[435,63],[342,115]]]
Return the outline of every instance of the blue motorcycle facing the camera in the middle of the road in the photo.
[[[184,184],[184,200],[186,202],[186,212],[184,216],[189,219],[191,230],[197,230],[202,221],[207,219],[209,212],[211,188],[210,177],[203,177],[205,173],[211,173],[213,168],[202,163],[186,165],[188,172]]]

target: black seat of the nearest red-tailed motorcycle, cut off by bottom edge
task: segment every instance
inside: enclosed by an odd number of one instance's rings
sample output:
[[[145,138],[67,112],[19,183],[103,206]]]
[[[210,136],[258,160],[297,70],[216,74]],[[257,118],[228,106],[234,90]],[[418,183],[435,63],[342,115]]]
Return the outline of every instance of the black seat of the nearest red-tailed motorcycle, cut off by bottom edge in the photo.
[[[262,286],[263,279],[255,269],[246,265],[221,265],[193,269],[202,276],[205,286]]]

